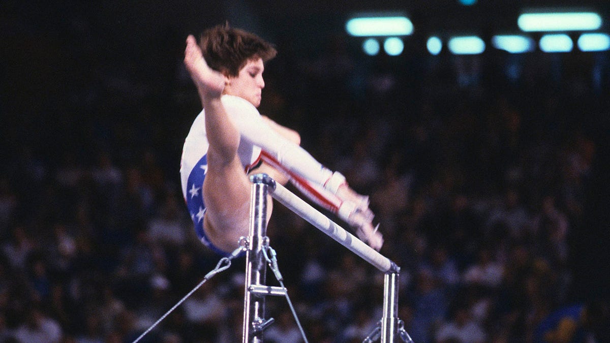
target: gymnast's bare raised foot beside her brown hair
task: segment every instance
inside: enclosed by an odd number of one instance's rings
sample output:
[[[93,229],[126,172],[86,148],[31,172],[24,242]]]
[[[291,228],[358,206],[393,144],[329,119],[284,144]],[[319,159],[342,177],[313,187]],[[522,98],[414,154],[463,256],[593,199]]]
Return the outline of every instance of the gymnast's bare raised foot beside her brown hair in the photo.
[[[207,65],[201,53],[201,48],[199,48],[193,35],[187,37],[184,65],[201,96],[219,98],[223,94],[226,77]]]

